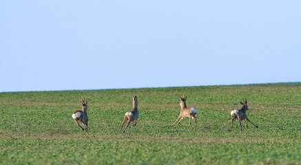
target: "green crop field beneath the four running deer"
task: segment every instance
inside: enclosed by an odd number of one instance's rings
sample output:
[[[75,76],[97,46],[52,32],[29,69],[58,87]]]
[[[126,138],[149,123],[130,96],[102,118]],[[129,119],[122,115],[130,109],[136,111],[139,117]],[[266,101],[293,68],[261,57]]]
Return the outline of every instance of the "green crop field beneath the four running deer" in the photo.
[[[198,123],[180,113],[180,96]],[[139,117],[119,133],[138,97]],[[89,136],[72,113],[87,98]],[[247,98],[255,126],[233,123]],[[301,83],[0,93],[1,164],[301,164]]]

